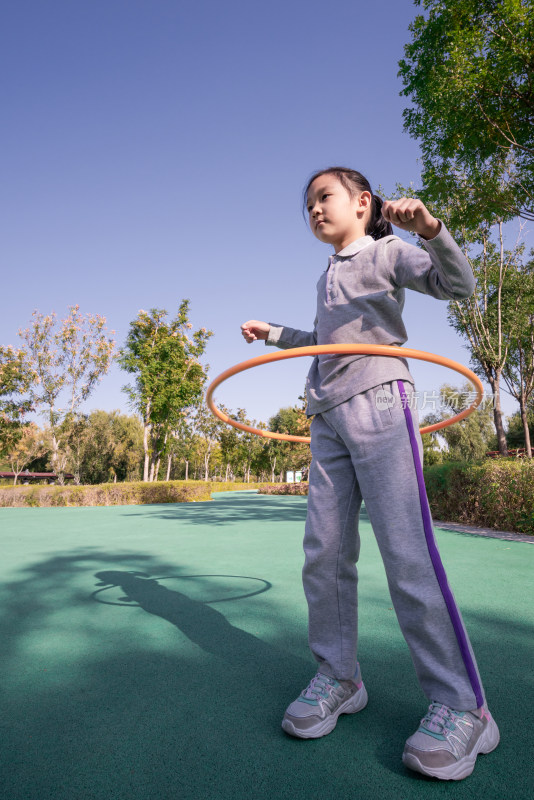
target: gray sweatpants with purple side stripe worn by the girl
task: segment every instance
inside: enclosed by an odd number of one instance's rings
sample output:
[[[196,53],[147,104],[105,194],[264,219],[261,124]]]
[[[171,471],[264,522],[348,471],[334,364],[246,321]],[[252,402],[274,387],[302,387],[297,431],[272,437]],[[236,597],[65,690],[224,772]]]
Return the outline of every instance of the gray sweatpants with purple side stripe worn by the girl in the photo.
[[[483,705],[484,693],[434,538],[412,392],[410,384],[393,381],[312,421],[303,570],[310,647],[321,672],[359,678],[356,562],[363,499],[423,692],[456,710],[474,709]]]

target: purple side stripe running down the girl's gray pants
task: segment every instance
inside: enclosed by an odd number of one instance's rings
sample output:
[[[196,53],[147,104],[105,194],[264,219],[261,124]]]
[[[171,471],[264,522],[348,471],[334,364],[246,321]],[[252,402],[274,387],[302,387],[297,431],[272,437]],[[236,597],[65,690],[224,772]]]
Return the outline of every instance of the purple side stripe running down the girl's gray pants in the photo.
[[[417,485],[419,487],[419,500],[421,503],[421,513],[423,516],[423,527],[425,530],[425,539],[428,547],[428,552],[430,553],[430,559],[432,561],[432,565],[436,573],[436,578],[438,579],[438,584],[441,589],[441,593],[443,594],[443,599],[445,600],[445,605],[447,606],[449,616],[451,618],[452,626],[454,628],[454,633],[456,634],[456,638],[458,640],[458,646],[460,648],[462,659],[465,668],[467,670],[467,675],[469,677],[469,681],[473,688],[473,692],[475,693],[477,708],[481,708],[484,705],[484,695],[482,693],[482,687],[478,679],[475,664],[473,662],[471,653],[469,651],[469,645],[467,643],[467,637],[465,634],[464,626],[462,624],[462,620],[460,619],[460,614],[458,612],[456,602],[451,592],[447,580],[447,574],[445,572],[443,562],[441,561],[441,557],[436,545],[436,540],[434,538],[432,517],[430,516],[430,507],[428,505],[425,481],[423,478],[423,467],[421,464],[421,459],[419,458],[419,447],[417,444],[417,439],[415,438],[415,430],[413,426],[412,415],[410,414],[410,409],[408,408],[406,390],[404,388],[404,383],[402,381],[398,380],[397,385],[399,387],[402,405],[404,408],[404,416],[406,418],[406,425],[408,427],[408,433],[410,436],[410,444],[412,447],[413,461],[415,466],[415,472],[417,475]],[[466,710],[466,709],[461,709],[461,710]]]

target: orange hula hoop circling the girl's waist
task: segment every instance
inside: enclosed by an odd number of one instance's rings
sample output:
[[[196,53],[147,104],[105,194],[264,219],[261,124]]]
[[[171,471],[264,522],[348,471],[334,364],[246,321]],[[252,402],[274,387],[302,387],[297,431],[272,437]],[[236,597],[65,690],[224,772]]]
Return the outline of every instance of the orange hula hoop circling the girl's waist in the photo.
[[[409,347],[395,347],[394,345],[387,344],[318,344],[310,347],[292,347],[289,350],[278,350],[274,353],[266,353],[263,356],[250,358],[248,361],[241,361],[240,364],[236,364],[234,367],[230,367],[224,372],[221,372],[221,374],[218,375],[208,386],[208,391],[206,393],[206,403],[208,408],[212,414],[222,420],[222,422],[225,422],[227,425],[232,425],[234,428],[239,428],[239,430],[246,431],[247,433],[253,433],[256,436],[262,436],[265,439],[280,439],[284,442],[305,442],[309,444],[309,436],[293,436],[289,433],[262,431],[259,428],[253,428],[251,425],[245,425],[243,422],[238,422],[236,419],[232,419],[228,416],[228,414],[225,414],[223,411],[221,411],[220,408],[217,408],[213,402],[213,393],[215,392],[215,389],[221,385],[221,383],[228,380],[228,378],[231,378],[232,375],[237,375],[239,372],[245,372],[247,369],[258,367],[260,364],[269,364],[271,361],[285,361],[287,358],[301,358],[302,356],[316,356],[320,354],[401,356],[402,358],[415,358],[419,361],[429,361],[432,364],[439,364],[442,367],[448,367],[449,369],[459,372],[460,375],[463,375],[465,378],[467,378],[472,383],[477,393],[477,396],[471,405],[450,419],[420,428],[420,433],[439,431],[442,428],[446,428],[449,425],[454,425],[456,422],[460,422],[460,420],[465,419],[469,416],[469,414],[472,414],[476,408],[478,408],[484,397],[484,387],[475,373],[467,367],[464,367],[463,364],[459,364],[457,361],[453,361],[451,358],[446,358],[445,356],[437,356],[434,353],[427,353],[424,350],[412,350]]]

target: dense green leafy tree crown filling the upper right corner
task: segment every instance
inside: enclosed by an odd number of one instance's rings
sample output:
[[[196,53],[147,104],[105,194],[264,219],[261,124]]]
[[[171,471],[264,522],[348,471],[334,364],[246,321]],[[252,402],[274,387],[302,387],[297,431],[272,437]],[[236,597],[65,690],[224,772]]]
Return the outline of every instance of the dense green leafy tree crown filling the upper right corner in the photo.
[[[426,14],[409,26],[399,75],[426,199],[446,202],[461,177],[474,225],[533,219],[534,0],[415,4]]]

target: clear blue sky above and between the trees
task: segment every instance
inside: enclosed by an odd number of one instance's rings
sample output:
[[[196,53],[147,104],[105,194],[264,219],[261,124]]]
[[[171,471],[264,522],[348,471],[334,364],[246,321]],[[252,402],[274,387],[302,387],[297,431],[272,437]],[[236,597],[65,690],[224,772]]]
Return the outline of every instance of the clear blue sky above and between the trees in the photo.
[[[418,183],[397,77],[411,0],[17,0],[4,5],[0,342],[78,303],[122,344],[139,309],[191,301],[210,377],[266,352],[249,318],[309,330],[329,248],[301,214],[318,168]],[[401,234],[403,235],[403,234]],[[469,362],[446,303],[407,293],[408,346]],[[413,363],[421,391],[462,378]],[[216,399],[267,420],[308,360]],[[86,410],[128,410],[118,367]],[[503,396],[506,413],[515,401]]]

